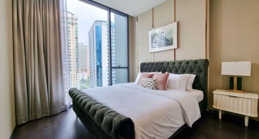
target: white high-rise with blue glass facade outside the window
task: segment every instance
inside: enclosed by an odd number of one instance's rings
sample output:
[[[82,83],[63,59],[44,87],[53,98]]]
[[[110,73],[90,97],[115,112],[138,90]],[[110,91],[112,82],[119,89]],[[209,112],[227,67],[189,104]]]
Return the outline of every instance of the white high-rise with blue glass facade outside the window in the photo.
[[[88,33],[90,56],[90,88],[109,85],[108,26],[95,21]]]

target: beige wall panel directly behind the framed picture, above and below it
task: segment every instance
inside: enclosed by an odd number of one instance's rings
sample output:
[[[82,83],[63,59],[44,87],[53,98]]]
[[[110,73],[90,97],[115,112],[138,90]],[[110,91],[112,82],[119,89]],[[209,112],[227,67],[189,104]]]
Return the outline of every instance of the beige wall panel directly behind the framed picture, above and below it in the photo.
[[[154,28],[174,23],[174,0],[168,0],[154,8]],[[174,60],[174,49],[154,52],[154,61]]]

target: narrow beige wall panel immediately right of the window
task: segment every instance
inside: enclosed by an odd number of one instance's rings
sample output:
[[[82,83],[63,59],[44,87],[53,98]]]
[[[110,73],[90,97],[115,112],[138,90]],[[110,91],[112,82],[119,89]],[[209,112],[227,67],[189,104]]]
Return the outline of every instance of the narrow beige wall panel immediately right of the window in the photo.
[[[128,34],[130,49],[130,82],[135,82],[138,75],[138,53],[137,53],[137,18],[128,17]]]

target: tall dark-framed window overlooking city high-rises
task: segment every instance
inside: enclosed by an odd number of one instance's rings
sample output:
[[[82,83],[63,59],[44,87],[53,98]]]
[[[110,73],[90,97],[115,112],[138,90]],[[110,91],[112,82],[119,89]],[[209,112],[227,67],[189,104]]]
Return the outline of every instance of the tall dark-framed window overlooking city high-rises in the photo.
[[[128,16],[92,1],[67,0],[70,87],[128,82]]]

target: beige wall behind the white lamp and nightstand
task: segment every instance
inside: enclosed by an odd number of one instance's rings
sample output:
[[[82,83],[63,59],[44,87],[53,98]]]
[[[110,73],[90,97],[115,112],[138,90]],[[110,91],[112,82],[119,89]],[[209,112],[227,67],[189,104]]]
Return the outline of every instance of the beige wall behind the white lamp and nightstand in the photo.
[[[258,6],[257,0],[210,1],[209,109],[213,109],[212,91],[229,87],[229,77],[221,75],[222,61],[251,61],[251,76],[242,78],[242,88],[259,93]]]

